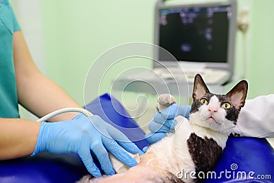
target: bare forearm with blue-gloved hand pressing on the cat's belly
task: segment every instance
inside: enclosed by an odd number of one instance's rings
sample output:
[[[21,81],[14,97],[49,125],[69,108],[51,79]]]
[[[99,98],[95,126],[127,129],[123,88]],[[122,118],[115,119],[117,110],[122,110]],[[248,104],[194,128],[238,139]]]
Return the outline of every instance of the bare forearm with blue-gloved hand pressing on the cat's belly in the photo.
[[[24,119],[0,119],[0,160],[32,156],[47,151],[51,154],[76,153],[88,171],[96,176],[101,173],[92,160],[92,151],[107,175],[115,173],[108,151],[128,167],[135,166],[132,154],[142,154],[127,136],[98,116],[90,118],[79,114],[70,121],[55,123],[34,122]]]

